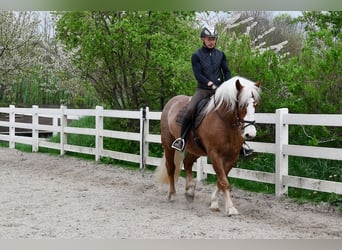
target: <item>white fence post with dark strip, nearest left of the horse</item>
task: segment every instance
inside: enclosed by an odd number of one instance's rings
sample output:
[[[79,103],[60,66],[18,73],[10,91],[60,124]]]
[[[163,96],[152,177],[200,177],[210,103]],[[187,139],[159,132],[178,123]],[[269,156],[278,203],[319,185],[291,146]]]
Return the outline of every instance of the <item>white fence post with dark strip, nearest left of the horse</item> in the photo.
[[[141,108],[140,109],[140,169],[145,168],[146,158],[148,156],[148,141],[146,140],[147,135],[149,133],[149,120],[148,120],[148,112],[149,108]]]

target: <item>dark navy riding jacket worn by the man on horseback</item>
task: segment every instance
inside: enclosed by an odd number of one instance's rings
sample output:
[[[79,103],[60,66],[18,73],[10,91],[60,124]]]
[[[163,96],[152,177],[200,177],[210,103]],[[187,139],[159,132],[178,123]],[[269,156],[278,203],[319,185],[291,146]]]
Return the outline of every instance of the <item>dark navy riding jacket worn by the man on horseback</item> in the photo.
[[[226,55],[218,49],[203,46],[192,55],[191,63],[200,89],[211,89],[209,81],[218,87],[231,77]]]

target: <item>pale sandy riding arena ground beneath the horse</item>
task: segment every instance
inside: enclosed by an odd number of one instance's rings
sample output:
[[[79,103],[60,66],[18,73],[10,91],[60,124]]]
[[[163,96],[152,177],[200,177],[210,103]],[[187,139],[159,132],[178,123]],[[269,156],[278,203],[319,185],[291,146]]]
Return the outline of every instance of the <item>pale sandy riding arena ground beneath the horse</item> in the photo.
[[[176,187],[170,203],[150,171],[0,148],[0,239],[342,239],[324,204],[233,189],[240,214],[227,217],[209,209],[213,185],[197,183],[191,203]]]

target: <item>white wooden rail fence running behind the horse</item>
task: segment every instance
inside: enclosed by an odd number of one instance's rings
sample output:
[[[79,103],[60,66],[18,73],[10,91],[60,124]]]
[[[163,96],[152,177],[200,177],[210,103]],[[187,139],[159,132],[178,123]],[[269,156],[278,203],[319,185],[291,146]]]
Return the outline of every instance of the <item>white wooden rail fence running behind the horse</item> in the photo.
[[[16,108],[11,105],[0,108],[0,115],[1,113],[9,115],[8,121],[0,121],[0,127],[8,127],[9,133],[0,135],[0,141],[9,142],[10,148],[14,148],[15,143],[23,143],[32,145],[33,152],[37,152],[39,147],[46,147],[59,150],[61,155],[65,154],[66,151],[79,152],[94,155],[96,161],[101,157],[109,157],[139,163],[141,168],[146,164],[158,166],[161,161],[160,158],[149,156],[149,143],[161,143],[159,134],[150,133],[149,122],[152,120],[160,120],[161,112],[151,112],[148,108],[141,109],[140,111],[127,111],[105,110],[100,106],[96,107],[96,109],[68,109],[65,106],[61,106],[59,109],[48,109],[39,108],[38,106],[32,106],[32,108]],[[32,123],[16,122],[15,117],[18,114],[32,116]],[[96,127],[69,127],[68,117],[72,116],[94,116]],[[39,124],[39,117],[51,117],[54,122],[52,125]],[[140,120],[140,131],[133,133],[106,130],[103,128],[103,119],[105,117]],[[275,173],[233,168],[229,173],[230,177],[275,184],[277,196],[287,193],[288,187],[342,194],[342,182],[288,175],[288,156],[342,161],[341,148],[289,145],[289,125],[342,127],[341,114],[289,114],[288,109],[284,108],[276,110],[275,114],[257,113],[256,122],[259,124],[275,124],[275,143],[248,142],[256,152],[275,154]],[[29,129],[32,131],[32,136],[18,136],[15,133],[16,128]],[[41,131],[50,131],[54,134],[60,133],[60,143],[53,143],[44,138],[39,138],[39,132]],[[70,145],[67,141],[67,134],[93,135],[95,136],[95,147]],[[139,141],[140,153],[136,155],[104,149],[104,137]],[[197,172],[198,180],[204,179],[206,174],[215,174],[212,166],[207,163],[206,157],[199,158],[193,169]]]

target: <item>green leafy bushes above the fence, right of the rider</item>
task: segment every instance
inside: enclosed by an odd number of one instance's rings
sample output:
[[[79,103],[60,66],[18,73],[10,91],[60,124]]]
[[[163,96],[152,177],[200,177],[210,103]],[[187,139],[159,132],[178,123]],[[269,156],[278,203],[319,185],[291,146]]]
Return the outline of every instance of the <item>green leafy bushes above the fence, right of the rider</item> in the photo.
[[[333,29],[327,24],[328,16],[324,25],[311,20],[320,29],[307,29],[308,38],[301,52],[291,57],[272,50],[261,53],[252,46],[248,35],[232,31],[220,35],[218,47],[226,52],[233,75],[261,80],[259,112],[274,112],[282,107],[292,113],[342,112],[342,43],[341,33],[335,32],[341,28],[341,19],[340,13],[333,14]]]

